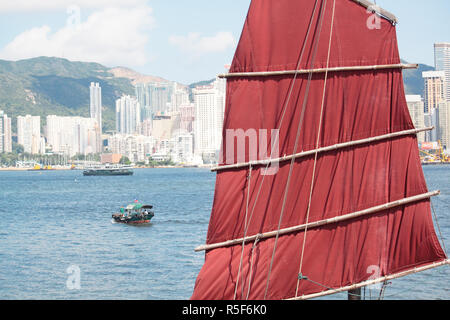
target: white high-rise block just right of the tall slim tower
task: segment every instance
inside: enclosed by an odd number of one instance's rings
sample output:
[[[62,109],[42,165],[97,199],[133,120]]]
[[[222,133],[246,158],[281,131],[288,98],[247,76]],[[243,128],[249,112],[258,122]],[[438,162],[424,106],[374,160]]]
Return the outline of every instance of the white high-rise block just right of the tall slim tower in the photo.
[[[116,100],[116,131],[120,134],[141,132],[141,105],[136,98],[123,96]]]

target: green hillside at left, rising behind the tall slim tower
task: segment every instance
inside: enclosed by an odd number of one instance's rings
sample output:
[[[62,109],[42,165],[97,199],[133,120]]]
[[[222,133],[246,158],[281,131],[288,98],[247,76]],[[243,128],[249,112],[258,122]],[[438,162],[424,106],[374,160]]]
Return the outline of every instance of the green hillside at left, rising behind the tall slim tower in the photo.
[[[122,94],[134,94],[134,88],[129,79],[115,78],[97,63],[48,57],[0,60],[0,110],[13,119],[13,131],[20,115],[39,115],[43,123],[49,114],[88,116],[91,82],[102,87],[103,126],[111,130],[115,127],[115,100]]]

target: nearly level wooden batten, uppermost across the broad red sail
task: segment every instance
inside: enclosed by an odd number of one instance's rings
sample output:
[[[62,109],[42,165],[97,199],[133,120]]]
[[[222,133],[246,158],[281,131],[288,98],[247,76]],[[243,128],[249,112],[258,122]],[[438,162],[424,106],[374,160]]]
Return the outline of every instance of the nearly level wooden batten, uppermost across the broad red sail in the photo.
[[[317,68],[317,69],[299,69],[299,70],[279,70],[279,71],[255,71],[255,72],[231,72],[219,74],[219,78],[234,78],[234,77],[267,77],[267,76],[284,76],[294,74],[309,74],[309,73],[325,73],[325,72],[340,72],[340,71],[375,71],[385,69],[417,69],[418,64],[411,63],[395,63],[395,64],[380,64],[370,66],[346,66],[346,67],[331,67],[331,68]]]

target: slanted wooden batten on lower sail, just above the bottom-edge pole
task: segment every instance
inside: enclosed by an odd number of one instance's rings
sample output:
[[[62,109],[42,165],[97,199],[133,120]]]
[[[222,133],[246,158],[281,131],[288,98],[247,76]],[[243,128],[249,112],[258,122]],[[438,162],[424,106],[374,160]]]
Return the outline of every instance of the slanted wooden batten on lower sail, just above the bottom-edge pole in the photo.
[[[388,203],[385,203],[385,204],[382,204],[379,206],[371,207],[371,208],[360,210],[357,212],[348,213],[348,214],[345,214],[342,216],[337,216],[334,218],[310,222],[308,224],[302,224],[302,225],[298,225],[298,226],[280,229],[279,235],[285,235],[285,234],[290,234],[290,233],[294,233],[294,232],[299,232],[299,231],[305,230],[306,228],[317,228],[317,227],[321,227],[321,226],[325,226],[325,225],[336,224],[336,223],[339,223],[342,221],[347,221],[350,219],[367,216],[370,214],[378,213],[381,211],[385,211],[385,210],[392,209],[395,207],[407,205],[410,203],[430,199],[431,197],[437,196],[439,194],[440,194],[440,191],[438,191],[438,190],[432,191],[432,192],[412,196],[409,198],[403,198],[403,199],[396,200],[393,202],[388,202]],[[267,239],[267,238],[273,238],[276,236],[277,233],[278,233],[278,231],[264,232],[264,233],[260,233],[258,235],[248,236],[245,238],[245,241],[246,242],[254,241],[256,238],[259,238],[259,241],[263,240],[263,239]],[[228,240],[228,241],[214,243],[214,244],[203,245],[203,246],[197,247],[195,249],[195,251],[197,251],[197,252],[198,251],[207,251],[207,250],[212,250],[212,249],[217,249],[217,248],[229,247],[229,246],[233,246],[236,244],[242,244],[243,240],[244,240],[243,238],[240,238],[240,239],[233,239],[233,240]]]

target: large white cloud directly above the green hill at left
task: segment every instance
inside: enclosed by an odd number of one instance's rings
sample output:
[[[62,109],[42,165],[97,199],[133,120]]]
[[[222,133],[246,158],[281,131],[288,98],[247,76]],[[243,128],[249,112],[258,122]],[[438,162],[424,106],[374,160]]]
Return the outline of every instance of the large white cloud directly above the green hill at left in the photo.
[[[106,8],[84,22],[72,12],[66,26],[54,32],[49,26],[22,32],[0,51],[0,57],[19,60],[57,56],[111,66],[140,66],[148,61],[145,47],[153,23],[148,6]]]

